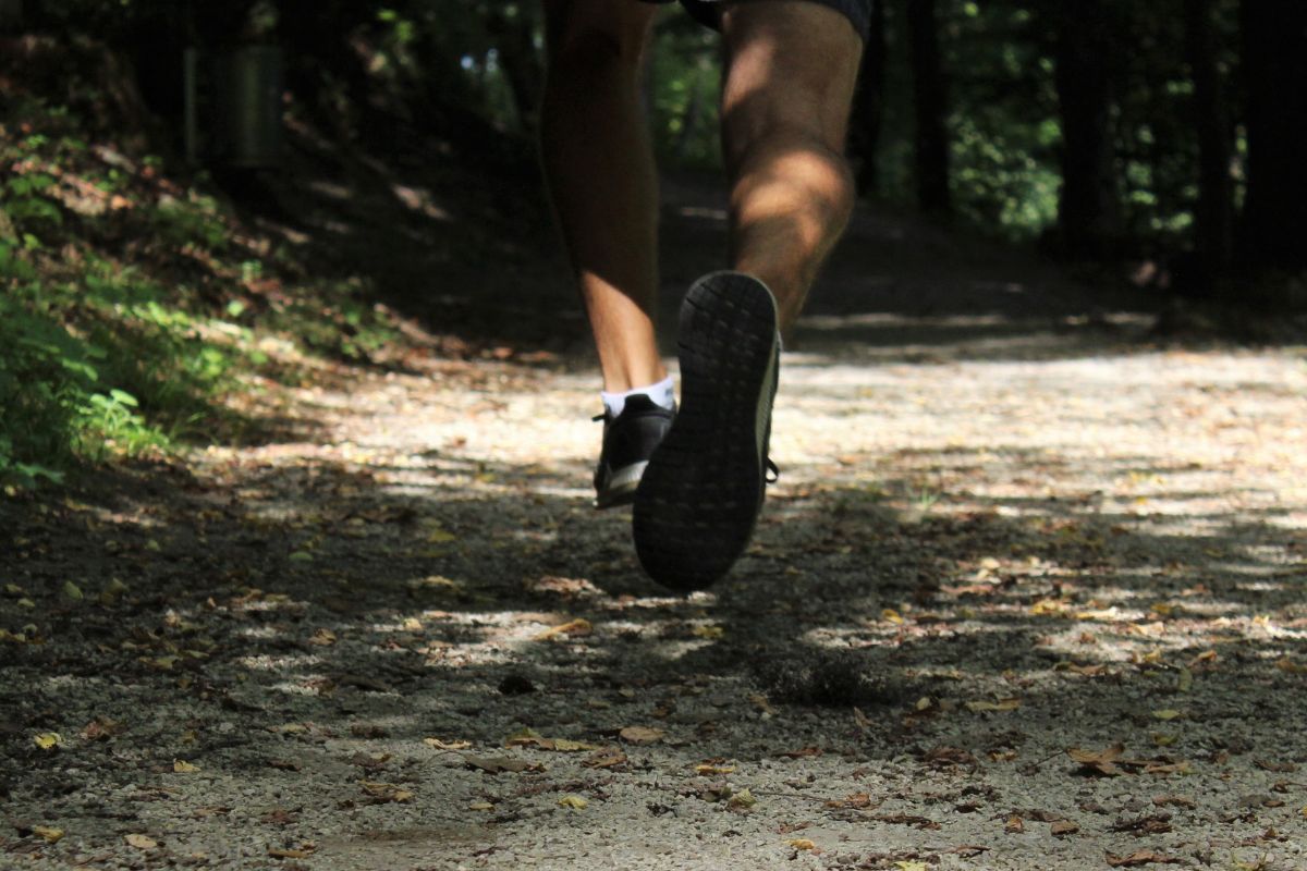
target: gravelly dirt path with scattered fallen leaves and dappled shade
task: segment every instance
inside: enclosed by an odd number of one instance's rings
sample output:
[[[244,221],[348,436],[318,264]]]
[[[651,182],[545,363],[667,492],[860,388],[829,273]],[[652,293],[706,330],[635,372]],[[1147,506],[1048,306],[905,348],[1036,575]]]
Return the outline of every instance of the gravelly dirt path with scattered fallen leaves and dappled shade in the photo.
[[[834,287],[711,594],[589,508],[584,359],[0,508],[0,866],[1307,868],[1303,353],[869,218]]]

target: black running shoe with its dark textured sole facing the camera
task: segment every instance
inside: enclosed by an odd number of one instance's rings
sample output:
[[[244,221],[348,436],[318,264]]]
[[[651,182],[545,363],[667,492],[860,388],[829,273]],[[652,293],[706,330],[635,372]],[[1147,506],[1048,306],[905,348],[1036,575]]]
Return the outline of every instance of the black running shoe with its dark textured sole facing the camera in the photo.
[[[699,590],[744,552],[762,509],[780,341],[757,278],[704,276],[681,304],[681,410],[635,492],[633,533],[659,584]]]

